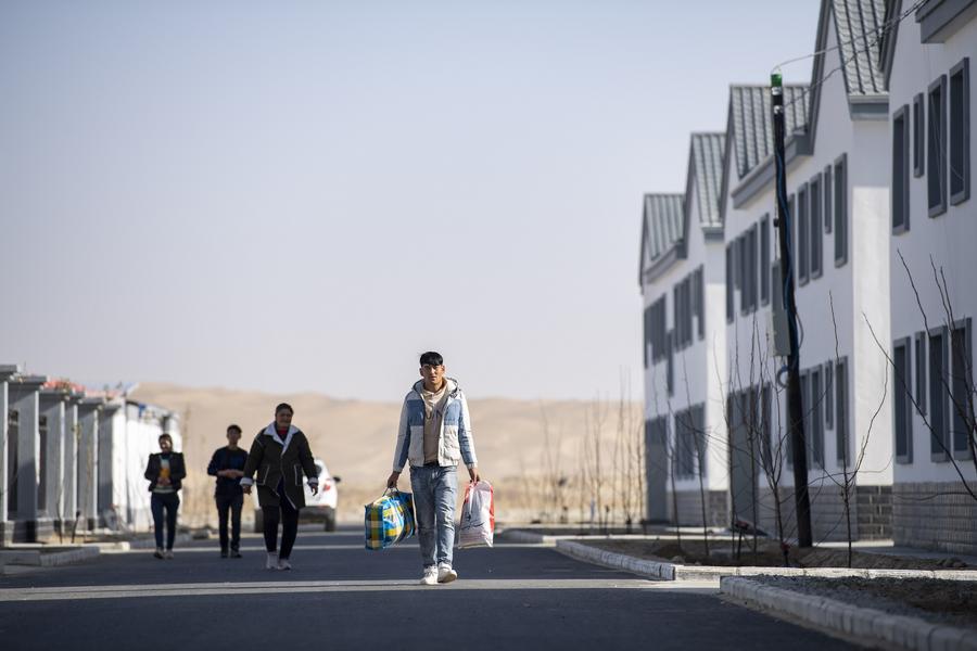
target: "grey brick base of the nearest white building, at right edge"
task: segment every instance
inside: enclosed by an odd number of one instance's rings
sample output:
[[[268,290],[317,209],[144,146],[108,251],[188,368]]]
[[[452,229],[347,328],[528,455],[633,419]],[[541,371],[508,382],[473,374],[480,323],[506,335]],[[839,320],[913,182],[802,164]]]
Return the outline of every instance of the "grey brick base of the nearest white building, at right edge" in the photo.
[[[898,546],[977,554],[977,500],[962,482],[896,484],[892,538]]]

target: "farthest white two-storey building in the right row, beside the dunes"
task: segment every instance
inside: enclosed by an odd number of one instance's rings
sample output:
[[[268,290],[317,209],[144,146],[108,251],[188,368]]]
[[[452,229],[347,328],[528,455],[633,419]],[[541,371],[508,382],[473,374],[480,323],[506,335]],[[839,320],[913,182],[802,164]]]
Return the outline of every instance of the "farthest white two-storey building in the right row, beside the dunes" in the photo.
[[[652,521],[729,523],[721,384],[724,143],[723,133],[693,135],[685,194],[645,197],[639,283]]]

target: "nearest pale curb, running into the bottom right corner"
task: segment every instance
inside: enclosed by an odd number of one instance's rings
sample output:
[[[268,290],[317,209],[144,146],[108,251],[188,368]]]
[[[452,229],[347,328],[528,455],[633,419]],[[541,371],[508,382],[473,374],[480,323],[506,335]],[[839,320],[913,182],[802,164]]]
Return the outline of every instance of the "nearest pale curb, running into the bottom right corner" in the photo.
[[[919,651],[977,651],[977,631],[724,576],[720,591],[772,613],[788,615],[827,633],[886,648]]]

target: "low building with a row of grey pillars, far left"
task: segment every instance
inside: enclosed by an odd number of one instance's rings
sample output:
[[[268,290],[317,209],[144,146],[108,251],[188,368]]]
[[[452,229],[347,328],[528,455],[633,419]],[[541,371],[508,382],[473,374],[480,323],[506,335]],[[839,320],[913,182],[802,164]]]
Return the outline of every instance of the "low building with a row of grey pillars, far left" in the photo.
[[[150,527],[147,459],[180,421],[128,393],[0,365],[0,546]]]

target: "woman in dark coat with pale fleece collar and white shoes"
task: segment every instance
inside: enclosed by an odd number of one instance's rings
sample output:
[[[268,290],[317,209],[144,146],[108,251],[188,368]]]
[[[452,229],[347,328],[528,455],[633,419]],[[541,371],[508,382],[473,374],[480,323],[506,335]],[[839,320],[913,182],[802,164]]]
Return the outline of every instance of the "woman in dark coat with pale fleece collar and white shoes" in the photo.
[[[275,422],[257,433],[241,486],[251,494],[257,484],[258,505],[265,532],[265,549],[268,570],[291,570],[289,557],[299,534],[299,510],[305,506],[303,473],[315,495],[319,489],[319,474],[313,460],[308,439],[292,425],[292,407],[282,403],[275,408]],[[255,478],[257,473],[257,478]],[[281,521],[281,548],[278,548],[278,523]]]

